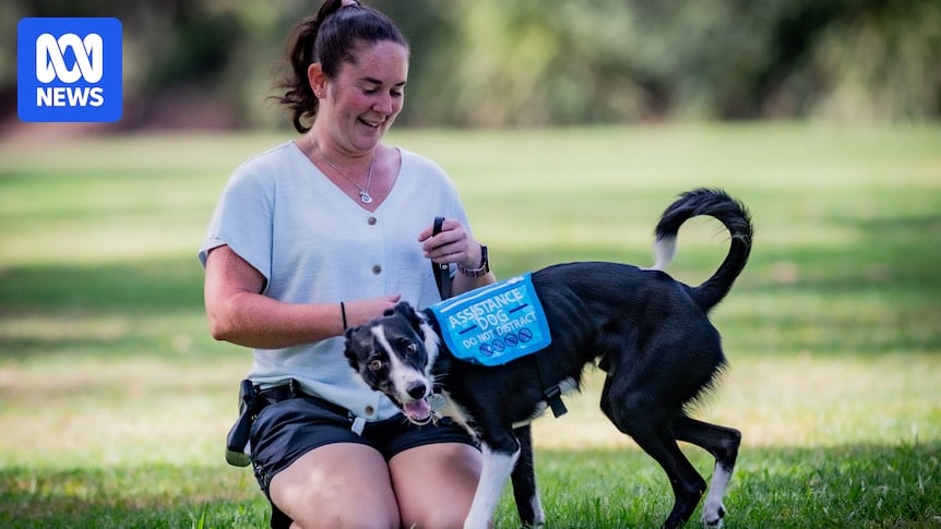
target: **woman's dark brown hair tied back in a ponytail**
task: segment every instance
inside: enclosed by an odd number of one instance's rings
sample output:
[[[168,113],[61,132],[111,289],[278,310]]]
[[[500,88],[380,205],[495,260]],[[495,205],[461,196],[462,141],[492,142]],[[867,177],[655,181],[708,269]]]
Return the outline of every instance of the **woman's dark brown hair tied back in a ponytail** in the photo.
[[[356,62],[356,45],[391,40],[408,41],[391,19],[350,0],[326,0],[317,15],[300,21],[289,41],[288,63],[276,88],[285,91],[277,101],[291,111],[295,130],[305,133],[317,116],[318,99],[307,80],[307,69],[320,62],[327,79],[335,79],[344,62]]]

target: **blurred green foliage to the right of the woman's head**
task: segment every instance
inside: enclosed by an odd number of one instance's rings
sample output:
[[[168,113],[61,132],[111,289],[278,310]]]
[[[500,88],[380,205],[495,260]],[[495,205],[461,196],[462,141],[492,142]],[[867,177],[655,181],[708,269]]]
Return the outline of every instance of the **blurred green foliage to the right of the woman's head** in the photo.
[[[939,117],[937,0],[454,3],[445,122]]]

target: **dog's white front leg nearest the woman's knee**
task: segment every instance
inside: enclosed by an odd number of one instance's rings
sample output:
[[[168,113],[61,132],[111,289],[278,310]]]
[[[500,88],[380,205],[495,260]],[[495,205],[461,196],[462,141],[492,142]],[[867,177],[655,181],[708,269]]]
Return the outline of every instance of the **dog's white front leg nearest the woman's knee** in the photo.
[[[520,457],[520,445],[512,435],[504,437],[499,447],[487,441],[480,443],[484,467],[480,470],[480,480],[477,482],[477,491],[474,493],[470,512],[464,520],[464,529],[490,527],[503,486],[510,479],[516,459]]]

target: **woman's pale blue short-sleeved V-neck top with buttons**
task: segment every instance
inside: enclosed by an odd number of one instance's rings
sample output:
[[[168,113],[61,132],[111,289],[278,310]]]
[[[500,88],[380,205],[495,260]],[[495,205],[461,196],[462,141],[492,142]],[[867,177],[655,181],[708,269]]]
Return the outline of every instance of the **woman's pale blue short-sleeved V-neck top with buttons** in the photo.
[[[374,213],[341,191],[294,142],[250,158],[234,171],[216,205],[200,261],[205,266],[209,251],[227,244],[264,276],[264,296],[288,303],[338,305],[390,293],[416,306],[440,301],[418,233],[436,216],[469,225],[444,171],[398,151],[398,177]],[[343,337],[254,349],[248,377],[262,387],[295,378],[307,393],[366,420],[397,413],[349,366],[343,349]]]

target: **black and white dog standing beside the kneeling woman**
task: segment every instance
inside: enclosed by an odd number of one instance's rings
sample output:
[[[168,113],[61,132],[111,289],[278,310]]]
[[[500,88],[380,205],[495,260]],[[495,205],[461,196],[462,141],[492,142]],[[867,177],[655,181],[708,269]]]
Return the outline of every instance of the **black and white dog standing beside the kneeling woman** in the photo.
[[[731,241],[716,273],[690,287],[663,269],[672,260],[680,225],[699,215],[722,221]],[[719,334],[706,314],[745,267],[751,239],[751,219],[741,203],[718,190],[691,191],[660,217],[653,268],[570,263],[533,273],[552,338],[535,354],[499,366],[457,360],[440,339],[431,311],[403,302],[349,329],[346,357],[410,421],[451,417],[479,441],[483,474],[465,528],[488,526],[511,474],[523,524],[544,522],[528,424],[552,404],[550,388],[577,389],[594,361],[607,373],[601,410],[669,477],[676,500],[664,527],[684,524],[706,491],[678,441],[715,457],[702,520],[719,526],[741,434],[691,419],[686,406],[712,386],[726,364]]]

